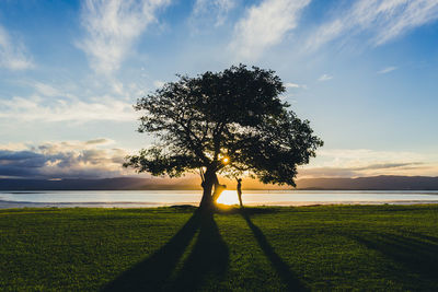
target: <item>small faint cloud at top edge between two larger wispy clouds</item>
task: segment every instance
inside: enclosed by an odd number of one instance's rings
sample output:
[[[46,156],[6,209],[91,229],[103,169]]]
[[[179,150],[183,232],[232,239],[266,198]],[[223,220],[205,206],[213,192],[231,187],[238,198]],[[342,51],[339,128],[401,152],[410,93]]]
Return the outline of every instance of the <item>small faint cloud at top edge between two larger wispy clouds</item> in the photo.
[[[196,0],[189,21],[196,30],[210,27],[209,23],[217,27],[224,23],[234,7],[234,0]]]

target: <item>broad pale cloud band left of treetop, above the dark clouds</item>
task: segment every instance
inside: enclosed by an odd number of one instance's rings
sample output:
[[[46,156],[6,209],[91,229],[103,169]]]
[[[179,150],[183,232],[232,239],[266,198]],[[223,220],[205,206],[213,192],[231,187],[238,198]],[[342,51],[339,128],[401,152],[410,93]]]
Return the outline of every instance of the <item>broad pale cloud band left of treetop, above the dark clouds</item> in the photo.
[[[16,84],[28,93],[0,96],[0,124],[4,129],[22,122],[132,122],[140,116],[132,108],[135,100],[148,92],[136,80],[123,83],[107,77],[50,83],[18,80]]]

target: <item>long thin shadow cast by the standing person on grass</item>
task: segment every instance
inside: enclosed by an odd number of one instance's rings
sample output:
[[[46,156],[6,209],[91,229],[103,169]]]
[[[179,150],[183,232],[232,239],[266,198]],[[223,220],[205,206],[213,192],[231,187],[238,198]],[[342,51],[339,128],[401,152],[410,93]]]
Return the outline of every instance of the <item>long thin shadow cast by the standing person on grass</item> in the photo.
[[[280,277],[281,281],[287,285],[288,291],[307,291],[301,281],[293,275],[289,266],[281,259],[281,257],[274,250],[262,230],[258,229],[252,221],[246,209],[241,209],[241,214],[245,219],[249,227],[254,234],[260,247],[269,259],[272,266]]]

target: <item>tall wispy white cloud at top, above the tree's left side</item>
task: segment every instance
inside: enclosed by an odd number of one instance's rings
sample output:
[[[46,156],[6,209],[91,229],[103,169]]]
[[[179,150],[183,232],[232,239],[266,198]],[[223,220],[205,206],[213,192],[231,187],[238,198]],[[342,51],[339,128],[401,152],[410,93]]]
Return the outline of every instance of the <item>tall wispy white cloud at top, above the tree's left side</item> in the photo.
[[[91,67],[110,74],[120,67],[134,42],[169,0],[85,0],[81,20],[87,37],[78,46],[89,56]]]

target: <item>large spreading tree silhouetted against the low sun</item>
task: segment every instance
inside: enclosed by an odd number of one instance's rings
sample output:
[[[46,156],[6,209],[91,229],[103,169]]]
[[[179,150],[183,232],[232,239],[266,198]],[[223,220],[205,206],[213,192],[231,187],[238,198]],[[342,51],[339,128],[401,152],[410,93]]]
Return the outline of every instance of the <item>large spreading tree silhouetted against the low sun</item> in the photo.
[[[124,166],[154,176],[199,172],[205,208],[223,189],[221,173],[296,186],[297,165],[309,163],[323,142],[280,100],[286,89],[274,71],[240,65],[177,77],[137,101],[135,109],[143,113],[138,131],[158,141]]]

